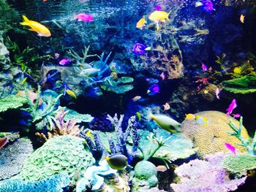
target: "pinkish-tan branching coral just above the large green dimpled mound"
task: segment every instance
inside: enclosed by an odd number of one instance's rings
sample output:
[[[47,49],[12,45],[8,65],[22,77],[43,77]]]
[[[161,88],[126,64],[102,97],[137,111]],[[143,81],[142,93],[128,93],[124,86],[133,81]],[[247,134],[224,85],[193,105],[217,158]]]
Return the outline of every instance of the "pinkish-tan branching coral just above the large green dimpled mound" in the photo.
[[[64,121],[64,117],[68,112],[69,110],[65,111],[65,107],[59,107],[59,111],[55,116],[56,122],[50,127],[51,131],[48,131],[46,135],[39,132],[36,133],[41,142],[60,135],[78,136],[80,134],[80,128],[76,125],[76,119]]]

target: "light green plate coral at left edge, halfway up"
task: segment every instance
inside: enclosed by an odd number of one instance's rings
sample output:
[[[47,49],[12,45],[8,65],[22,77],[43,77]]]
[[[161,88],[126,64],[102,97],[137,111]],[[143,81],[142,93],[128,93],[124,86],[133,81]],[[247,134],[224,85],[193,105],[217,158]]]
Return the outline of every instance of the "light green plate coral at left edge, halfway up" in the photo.
[[[5,112],[10,109],[16,109],[26,104],[27,100],[22,96],[8,96],[0,99],[0,112]]]

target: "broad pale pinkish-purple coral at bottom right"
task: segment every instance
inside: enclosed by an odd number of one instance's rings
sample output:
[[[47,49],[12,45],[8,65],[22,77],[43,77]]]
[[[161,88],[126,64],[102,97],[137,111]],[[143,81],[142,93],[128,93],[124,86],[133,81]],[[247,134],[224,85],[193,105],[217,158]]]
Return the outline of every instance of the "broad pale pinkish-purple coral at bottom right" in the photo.
[[[235,191],[245,183],[246,177],[230,180],[222,167],[224,153],[206,155],[205,160],[192,160],[175,169],[180,177],[179,184],[170,184],[176,192],[225,192]]]

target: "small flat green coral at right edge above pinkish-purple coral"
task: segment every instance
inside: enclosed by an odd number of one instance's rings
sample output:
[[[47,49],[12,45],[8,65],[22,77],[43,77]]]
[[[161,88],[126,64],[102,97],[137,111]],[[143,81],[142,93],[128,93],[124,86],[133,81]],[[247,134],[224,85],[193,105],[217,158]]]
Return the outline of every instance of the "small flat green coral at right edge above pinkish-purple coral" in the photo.
[[[256,155],[248,153],[225,155],[222,165],[229,172],[244,174],[247,170],[256,169]]]

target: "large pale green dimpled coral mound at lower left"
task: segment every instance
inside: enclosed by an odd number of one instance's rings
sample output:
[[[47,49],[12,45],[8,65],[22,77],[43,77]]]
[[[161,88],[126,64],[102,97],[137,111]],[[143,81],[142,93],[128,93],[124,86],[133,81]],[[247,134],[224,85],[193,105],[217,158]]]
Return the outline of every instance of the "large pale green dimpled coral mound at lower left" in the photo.
[[[83,146],[79,137],[69,135],[53,137],[29,156],[20,172],[23,180],[42,180],[54,174],[74,174],[86,170],[95,159]],[[72,180],[74,182],[74,180]]]

